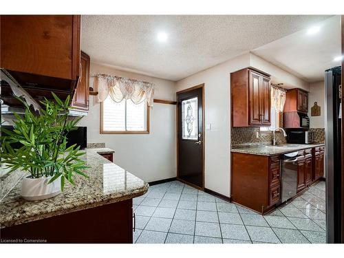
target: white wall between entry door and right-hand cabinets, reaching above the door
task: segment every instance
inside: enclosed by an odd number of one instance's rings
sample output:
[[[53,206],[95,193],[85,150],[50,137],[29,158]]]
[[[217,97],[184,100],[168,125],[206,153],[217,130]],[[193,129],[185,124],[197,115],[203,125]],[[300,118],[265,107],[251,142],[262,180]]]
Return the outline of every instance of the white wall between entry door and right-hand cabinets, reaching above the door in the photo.
[[[177,91],[204,83],[205,187],[230,196],[230,72],[249,66],[244,54],[177,82]]]

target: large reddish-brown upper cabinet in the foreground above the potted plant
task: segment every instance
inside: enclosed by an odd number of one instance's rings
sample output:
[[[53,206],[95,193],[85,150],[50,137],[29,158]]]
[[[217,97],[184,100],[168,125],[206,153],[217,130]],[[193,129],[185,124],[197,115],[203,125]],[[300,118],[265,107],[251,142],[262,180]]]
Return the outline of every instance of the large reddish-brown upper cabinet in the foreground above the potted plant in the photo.
[[[61,98],[74,92],[80,73],[80,15],[1,15],[0,22],[1,68],[37,99],[51,98],[50,92]]]

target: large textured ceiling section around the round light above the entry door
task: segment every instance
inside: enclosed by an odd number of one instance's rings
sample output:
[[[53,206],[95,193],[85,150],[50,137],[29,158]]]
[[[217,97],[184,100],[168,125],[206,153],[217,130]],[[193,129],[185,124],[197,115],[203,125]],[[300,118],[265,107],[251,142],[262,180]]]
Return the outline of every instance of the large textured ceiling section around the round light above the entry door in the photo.
[[[83,15],[82,50],[96,63],[169,80],[308,28],[328,16]],[[157,41],[166,32],[165,43]]]

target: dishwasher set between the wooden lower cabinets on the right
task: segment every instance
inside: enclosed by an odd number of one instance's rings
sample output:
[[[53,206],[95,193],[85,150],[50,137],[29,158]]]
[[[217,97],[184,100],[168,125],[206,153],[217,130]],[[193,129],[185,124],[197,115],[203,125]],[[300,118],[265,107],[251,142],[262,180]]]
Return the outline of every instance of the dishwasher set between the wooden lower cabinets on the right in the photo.
[[[286,153],[281,158],[282,203],[297,195],[297,161],[303,158],[298,153]]]

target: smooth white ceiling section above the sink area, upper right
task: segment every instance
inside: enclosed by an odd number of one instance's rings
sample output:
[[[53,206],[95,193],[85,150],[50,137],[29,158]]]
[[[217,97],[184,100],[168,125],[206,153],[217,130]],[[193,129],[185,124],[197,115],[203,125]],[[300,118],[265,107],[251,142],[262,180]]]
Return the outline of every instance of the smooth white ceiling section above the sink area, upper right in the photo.
[[[323,80],[325,69],[341,65],[341,17],[318,23],[320,31],[301,30],[258,47],[252,53],[309,83]]]

